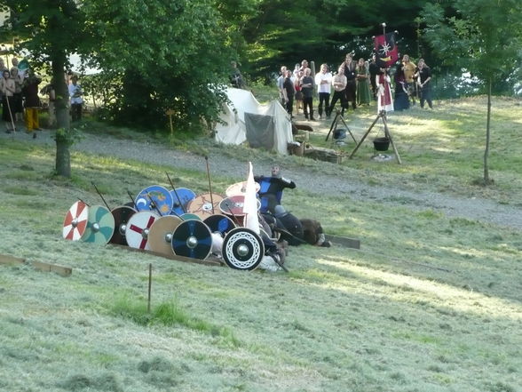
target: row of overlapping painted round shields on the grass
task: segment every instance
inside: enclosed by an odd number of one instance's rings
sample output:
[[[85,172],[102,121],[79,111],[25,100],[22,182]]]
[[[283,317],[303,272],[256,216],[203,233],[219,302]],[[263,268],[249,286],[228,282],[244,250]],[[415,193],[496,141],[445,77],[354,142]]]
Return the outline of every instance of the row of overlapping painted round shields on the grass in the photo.
[[[244,188],[244,183],[234,184],[224,197],[154,185],[138,194],[136,208],[123,205],[112,211],[77,201],[67,212],[62,235],[199,260],[216,252],[229,267],[252,270],[261,262],[265,246],[257,233],[241,227]]]

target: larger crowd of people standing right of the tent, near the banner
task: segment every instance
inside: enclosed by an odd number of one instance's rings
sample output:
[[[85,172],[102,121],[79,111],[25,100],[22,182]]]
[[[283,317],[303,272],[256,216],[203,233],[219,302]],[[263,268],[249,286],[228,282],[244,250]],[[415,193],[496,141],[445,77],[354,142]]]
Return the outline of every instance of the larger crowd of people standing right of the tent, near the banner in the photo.
[[[409,108],[410,101],[415,105],[417,96],[421,108],[424,107],[425,102],[432,108],[431,69],[423,59],[415,65],[409,60],[409,56],[405,55],[398,65],[394,75],[395,104],[390,68],[378,64],[375,54],[371,61],[360,59],[356,62],[352,54],[348,53],[335,75],[332,75],[327,64],[321,64],[320,72],[315,77],[311,74],[312,69],[308,67],[307,60],[296,64],[294,71],[285,66],[281,67],[277,86],[281,103],[290,116],[293,115],[294,101],[296,101],[297,112],[302,107],[305,118],[315,120],[314,88],[317,89],[319,96],[317,106],[319,119],[330,118],[338,101],[341,104],[342,115],[350,106],[355,110],[362,105],[369,105],[372,100],[377,101],[378,112],[402,110]]]

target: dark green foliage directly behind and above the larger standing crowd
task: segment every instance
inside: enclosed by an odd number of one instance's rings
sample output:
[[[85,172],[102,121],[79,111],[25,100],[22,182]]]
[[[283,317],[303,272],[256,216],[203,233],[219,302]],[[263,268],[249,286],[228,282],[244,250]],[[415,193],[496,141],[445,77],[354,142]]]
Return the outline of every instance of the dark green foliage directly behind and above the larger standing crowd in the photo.
[[[241,1],[241,0],[237,0]],[[248,2],[248,0],[244,0]],[[300,60],[338,65],[346,52],[368,57],[382,22],[398,30],[401,47],[418,52],[415,21],[425,1],[257,0],[257,11],[242,24],[246,68],[260,76]],[[415,53],[416,54],[416,53]],[[246,61],[245,61],[246,62]]]

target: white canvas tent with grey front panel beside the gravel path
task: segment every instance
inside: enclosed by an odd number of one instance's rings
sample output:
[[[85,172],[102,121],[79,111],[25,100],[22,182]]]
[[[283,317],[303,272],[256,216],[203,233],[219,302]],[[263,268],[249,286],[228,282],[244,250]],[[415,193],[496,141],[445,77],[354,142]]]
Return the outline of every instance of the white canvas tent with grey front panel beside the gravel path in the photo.
[[[216,125],[216,140],[225,144],[241,144],[249,141],[251,147],[273,149],[288,154],[292,138],[289,114],[277,100],[261,105],[251,92],[228,88],[230,104],[225,105],[221,120]]]

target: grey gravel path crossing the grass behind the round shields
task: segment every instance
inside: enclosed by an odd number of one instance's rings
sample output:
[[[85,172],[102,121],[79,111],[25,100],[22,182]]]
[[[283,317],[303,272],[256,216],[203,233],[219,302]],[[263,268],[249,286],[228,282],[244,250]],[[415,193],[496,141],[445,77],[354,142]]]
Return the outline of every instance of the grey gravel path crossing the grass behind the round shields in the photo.
[[[2,132],[0,138],[27,140],[54,146],[52,132],[38,132],[38,137],[31,139],[25,132],[6,134]],[[151,164],[171,163],[175,167],[205,171],[206,165],[202,156],[172,150],[158,144],[142,143],[132,140],[119,140],[109,136],[88,135],[84,140],[75,144],[75,149],[93,154],[117,156],[123,159],[138,159]],[[227,168],[225,174],[243,180],[245,177],[245,163],[219,154],[218,148],[211,148],[209,160],[212,167]],[[256,173],[270,172],[270,163],[254,162]],[[320,176],[310,169],[284,169],[284,176],[306,188],[312,193],[325,192],[334,195],[346,195],[356,200],[375,200],[380,203],[404,206],[419,211],[431,209],[445,213],[450,217],[462,217],[470,220],[491,222],[499,226],[522,230],[522,209],[510,205],[498,204],[491,200],[478,197],[447,196],[436,192],[412,192],[401,188],[392,188],[389,185],[369,186],[356,178],[321,173]]]

